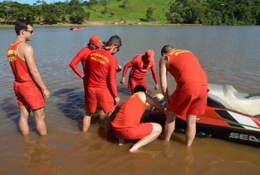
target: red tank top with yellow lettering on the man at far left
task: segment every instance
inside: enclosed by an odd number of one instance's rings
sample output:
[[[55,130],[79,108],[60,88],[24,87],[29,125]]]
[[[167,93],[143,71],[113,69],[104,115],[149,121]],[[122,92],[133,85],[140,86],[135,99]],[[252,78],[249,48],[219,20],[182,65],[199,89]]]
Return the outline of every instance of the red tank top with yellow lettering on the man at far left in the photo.
[[[17,41],[12,43],[7,48],[7,58],[12,68],[14,74],[14,79],[17,82],[33,81],[32,76],[28,70],[25,59],[22,59],[18,54],[18,47],[23,43],[22,41]]]

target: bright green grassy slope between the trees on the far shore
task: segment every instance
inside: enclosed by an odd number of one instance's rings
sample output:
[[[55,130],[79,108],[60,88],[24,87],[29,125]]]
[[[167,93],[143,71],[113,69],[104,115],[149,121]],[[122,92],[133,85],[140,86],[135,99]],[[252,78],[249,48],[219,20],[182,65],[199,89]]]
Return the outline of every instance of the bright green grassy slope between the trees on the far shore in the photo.
[[[118,7],[123,4],[123,1],[108,0],[107,5],[98,4],[91,8],[84,6],[84,10],[90,12],[89,20],[108,21],[114,19],[124,19],[127,22],[146,19],[146,11],[149,7],[154,9],[156,21],[166,21],[165,12],[168,11],[169,3],[173,0],[128,0],[126,8]],[[107,7],[107,13],[101,14],[101,11]],[[111,16],[111,12],[115,13]]]

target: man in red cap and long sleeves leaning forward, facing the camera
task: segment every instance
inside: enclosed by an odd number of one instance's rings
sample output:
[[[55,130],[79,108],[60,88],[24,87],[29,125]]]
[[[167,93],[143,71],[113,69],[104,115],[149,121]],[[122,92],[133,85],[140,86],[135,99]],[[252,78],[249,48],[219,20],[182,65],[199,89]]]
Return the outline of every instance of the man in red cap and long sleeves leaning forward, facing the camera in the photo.
[[[128,79],[128,89],[131,90],[133,93],[134,87],[136,85],[142,85],[147,89],[147,85],[145,82],[145,76],[147,75],[147,72],[149,69],[152,70],[152,77],[155,80],[155,87],[154,89],[158,89],[158,80],[157,80],[157,74],[155,71],[155,53],[152,50],[147,50],[145,52],[145,55],[137,55],[132,61],[127,63],[124,67],[122,78],[121,78],[121,84],[123,85],[125,83],[125,76],[126,72],[129,67],[132,67],[131,72],[129,74]]]

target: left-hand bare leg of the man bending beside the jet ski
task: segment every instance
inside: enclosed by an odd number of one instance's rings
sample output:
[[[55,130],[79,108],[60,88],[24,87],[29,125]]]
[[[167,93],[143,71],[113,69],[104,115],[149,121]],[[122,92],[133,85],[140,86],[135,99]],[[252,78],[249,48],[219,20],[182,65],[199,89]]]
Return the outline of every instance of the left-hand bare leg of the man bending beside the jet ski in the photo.
[[[175,118],[177,114],[170,111],[170,114],[166,116],[165,120],[165,129],[164,129],[164,140],[169,142],[170,137],[173,133],[173,130],[175,128]]]

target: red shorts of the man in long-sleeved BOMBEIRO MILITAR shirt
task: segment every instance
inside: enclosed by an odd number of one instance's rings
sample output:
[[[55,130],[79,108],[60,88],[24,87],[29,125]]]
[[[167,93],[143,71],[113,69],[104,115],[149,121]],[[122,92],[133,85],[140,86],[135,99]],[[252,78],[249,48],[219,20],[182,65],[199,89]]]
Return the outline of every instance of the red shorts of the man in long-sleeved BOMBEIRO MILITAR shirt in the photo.
[[[96,112],[98,104],[104,113],[112,111],[118,105],[107,88],[87,87],[85,94],[85,105],[91,113]]]

